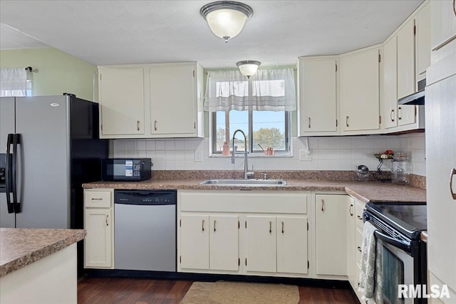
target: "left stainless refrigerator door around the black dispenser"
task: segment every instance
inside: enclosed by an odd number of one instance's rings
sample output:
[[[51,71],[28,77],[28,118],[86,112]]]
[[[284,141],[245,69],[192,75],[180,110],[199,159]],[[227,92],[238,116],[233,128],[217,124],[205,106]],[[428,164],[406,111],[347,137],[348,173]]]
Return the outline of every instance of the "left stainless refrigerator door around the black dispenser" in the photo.
[[[14,129],[14,97],[0,98],[0,153],[6,152],[8,134]],[[4,157],[6,158],[6,157]],[[14,227],[15,214],[9,214],[6,206],[6,193],[0,192],[0,227]]]

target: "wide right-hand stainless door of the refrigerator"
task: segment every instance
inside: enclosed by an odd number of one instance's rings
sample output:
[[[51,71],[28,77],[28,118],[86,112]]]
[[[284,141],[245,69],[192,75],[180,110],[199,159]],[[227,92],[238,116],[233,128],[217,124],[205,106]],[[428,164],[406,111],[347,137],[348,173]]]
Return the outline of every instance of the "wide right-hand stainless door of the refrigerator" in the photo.
[[[70,228],[70,144],[66,96],[16,98],[18,228]]]

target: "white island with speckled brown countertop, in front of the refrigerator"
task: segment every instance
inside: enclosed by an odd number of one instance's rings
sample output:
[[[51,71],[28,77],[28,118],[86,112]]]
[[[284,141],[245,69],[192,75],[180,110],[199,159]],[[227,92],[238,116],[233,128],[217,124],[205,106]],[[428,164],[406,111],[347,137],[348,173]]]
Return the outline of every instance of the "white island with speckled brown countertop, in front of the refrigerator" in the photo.
[[[78,229],[0,229],[0,303],[77,303]]]

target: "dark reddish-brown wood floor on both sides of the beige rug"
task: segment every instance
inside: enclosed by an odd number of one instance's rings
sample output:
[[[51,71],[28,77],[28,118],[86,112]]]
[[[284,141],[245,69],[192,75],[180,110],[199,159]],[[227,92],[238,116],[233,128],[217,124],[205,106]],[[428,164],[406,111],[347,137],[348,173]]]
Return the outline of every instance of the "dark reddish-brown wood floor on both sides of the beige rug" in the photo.
[[[178,304],[192,281],[134,278],[84,278],[78,283],[78,303]],[[359,303],[352,290],[299,286],[299,304]]]

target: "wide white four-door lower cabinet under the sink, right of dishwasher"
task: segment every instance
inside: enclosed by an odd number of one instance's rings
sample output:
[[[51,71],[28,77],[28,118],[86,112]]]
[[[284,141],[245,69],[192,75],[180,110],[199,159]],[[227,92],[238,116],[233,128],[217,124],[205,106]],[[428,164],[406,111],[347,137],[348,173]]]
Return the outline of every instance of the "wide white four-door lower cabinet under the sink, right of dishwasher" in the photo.
[[[177,271],[308,273],[308,192],[177,193]]]

